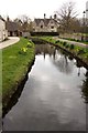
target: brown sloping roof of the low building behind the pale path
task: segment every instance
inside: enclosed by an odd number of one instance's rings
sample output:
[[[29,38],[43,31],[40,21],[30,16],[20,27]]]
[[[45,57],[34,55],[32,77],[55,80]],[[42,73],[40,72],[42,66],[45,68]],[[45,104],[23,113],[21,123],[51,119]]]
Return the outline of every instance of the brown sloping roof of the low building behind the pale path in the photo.
[[[19,27],[15,22],[7,21],[7,30],[8,31],[16,31],[16,30],[19,30]]]

